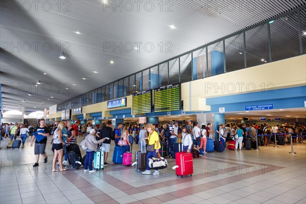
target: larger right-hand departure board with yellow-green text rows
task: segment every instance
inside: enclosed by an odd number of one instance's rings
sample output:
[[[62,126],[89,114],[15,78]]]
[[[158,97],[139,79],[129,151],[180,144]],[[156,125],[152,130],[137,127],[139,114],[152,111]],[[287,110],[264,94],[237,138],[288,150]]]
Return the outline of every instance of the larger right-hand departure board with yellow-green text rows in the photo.
[[[154,89],[154,111],[181,110],[181,84],[172,84]]]

